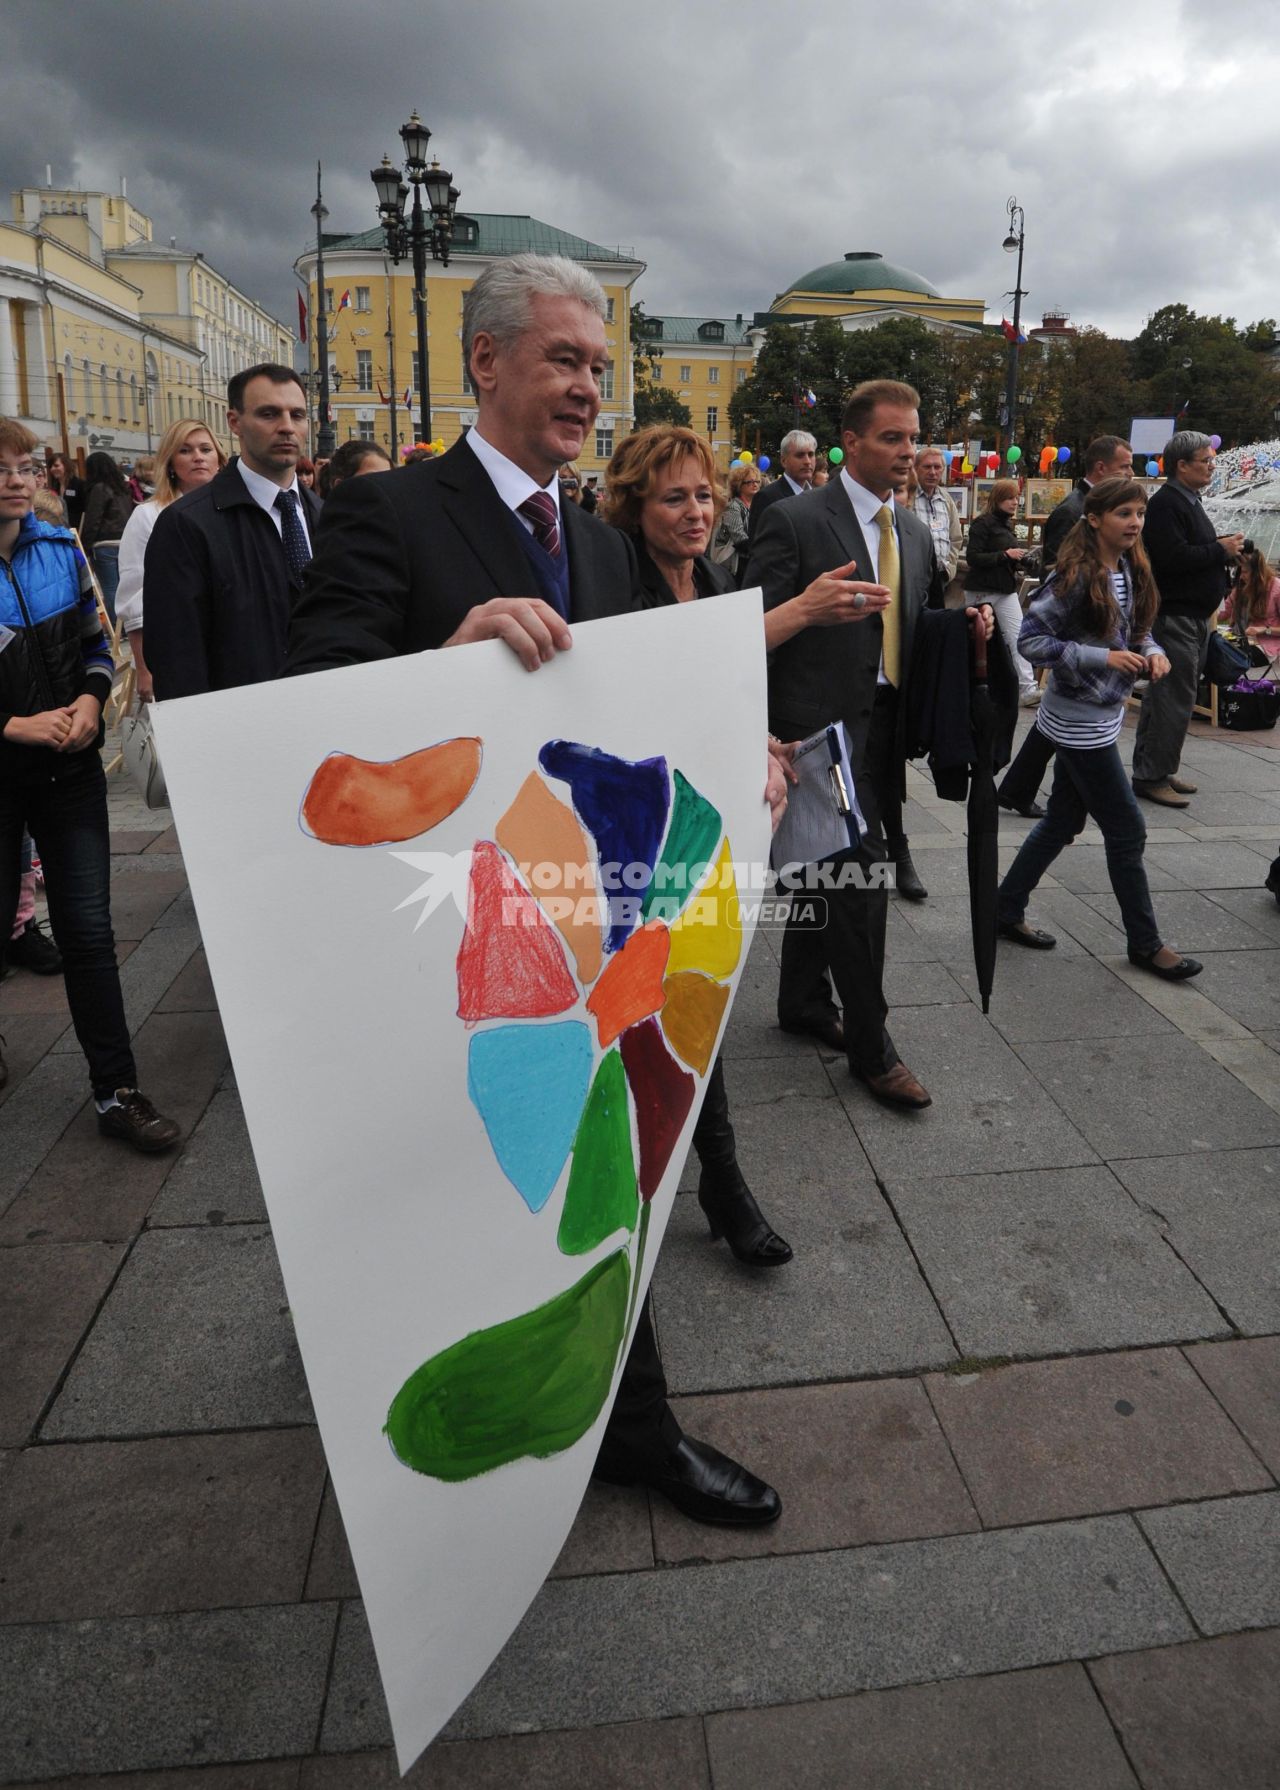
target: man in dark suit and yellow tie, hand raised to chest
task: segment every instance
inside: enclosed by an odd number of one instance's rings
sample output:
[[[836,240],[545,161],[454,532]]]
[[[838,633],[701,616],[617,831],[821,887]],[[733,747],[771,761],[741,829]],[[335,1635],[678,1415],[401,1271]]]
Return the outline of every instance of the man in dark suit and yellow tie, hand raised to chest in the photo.
[[[793,902],[779,1024],[843,1047],[852,1074],[875,1099],[904,1108],[927,1106],[929,1094],[900,1061],[884,1026],[888,866],[881,809],[884,795],[902,788],[906,673],[917,618],[936,591],[933,537],[893,501],[893,485],[915,458],[918,405],[917,392],[895,379],[859,385],[841,419],[840,474],[802,503],[768,512],[745,578],[764,591],[770,729],[781,739],[802,739],[843,721],[870,829],[863,850],[843,866],[847,886],[818,888],[816,902],[802,893]],[[990,625],[990,610],[986,618]],[[838,881],[841,865],[820,870]]]

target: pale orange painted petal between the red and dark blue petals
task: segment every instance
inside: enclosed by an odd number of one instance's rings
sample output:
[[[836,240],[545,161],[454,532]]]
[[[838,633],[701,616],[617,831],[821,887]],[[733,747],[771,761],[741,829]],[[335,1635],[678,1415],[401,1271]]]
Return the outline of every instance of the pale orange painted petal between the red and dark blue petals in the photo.
[[[530,771],[494,827],[494,838],[521,866],[535,900],[573,952],[578,981],[589,988],[600,976],[605,904],[587,836],[573,809]]]

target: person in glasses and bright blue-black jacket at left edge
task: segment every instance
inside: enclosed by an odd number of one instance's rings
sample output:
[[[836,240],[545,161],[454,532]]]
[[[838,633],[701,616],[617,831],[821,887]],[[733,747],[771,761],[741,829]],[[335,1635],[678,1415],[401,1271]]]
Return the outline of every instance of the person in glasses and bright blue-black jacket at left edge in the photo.
[[[36,446],[30,430],[0,417],[0,940],[13,933],[29,829],[98,1131],[134,1149],[170,1149],[179,1128],[138,1090],[111,936],[98,746],[115,668],[75,537],[32,514]]]

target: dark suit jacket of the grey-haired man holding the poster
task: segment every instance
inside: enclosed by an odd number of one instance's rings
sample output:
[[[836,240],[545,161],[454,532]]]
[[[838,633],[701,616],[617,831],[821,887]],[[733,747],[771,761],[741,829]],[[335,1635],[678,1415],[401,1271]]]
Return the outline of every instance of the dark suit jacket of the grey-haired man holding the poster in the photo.
[[[639,609],[636,550],[560,507],[569,619]],[[347,478],[324,505],[315,558],[288,628],[288,673],[442,646],[469,609],[537,596],[519,523],[465,440],[439,460]]]

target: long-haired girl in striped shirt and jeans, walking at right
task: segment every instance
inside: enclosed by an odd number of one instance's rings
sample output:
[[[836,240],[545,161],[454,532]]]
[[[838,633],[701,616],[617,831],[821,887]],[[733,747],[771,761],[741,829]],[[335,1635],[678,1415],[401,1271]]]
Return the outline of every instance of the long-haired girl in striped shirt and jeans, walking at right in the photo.
[[[1183,981],[1203,965],[1160,940],[1142,863],[1146,822],[1117,746],[1133,684],[1169,671],[1151,635],[1160,594],[1142,548],[1144,516],[1146,492],[1137,480],[1094,485],[1022,621],[1019,652],[1051,673],[1035,725],[1058,750],[1044,820],[1001,882],[997,931],[1033,950],[1053,949],[1051,933],[1026,924],[1028,899],[1092,816],[1106,845],[1130,963]]]

